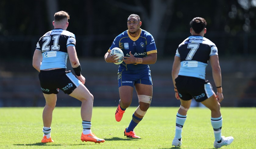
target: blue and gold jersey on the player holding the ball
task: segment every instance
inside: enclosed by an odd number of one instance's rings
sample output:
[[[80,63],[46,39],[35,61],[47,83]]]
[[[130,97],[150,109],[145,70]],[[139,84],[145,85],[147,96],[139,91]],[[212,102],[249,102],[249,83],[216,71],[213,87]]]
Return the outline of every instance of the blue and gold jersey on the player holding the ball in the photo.
[[[144,58],[147,57],[148,54],[157,53],[153,36],[143,29],[140,29],[140,34],[137,37],[132,37],[128,30],[124,31],[114,39],[109,49],[115,47],[120,48],[126,57],[130,56],[130,51],[136,58]],[[126,71],[137,71],[148,68],[148,65],[126,64],[123,62],[120,64],[119,69],[120,68]]]

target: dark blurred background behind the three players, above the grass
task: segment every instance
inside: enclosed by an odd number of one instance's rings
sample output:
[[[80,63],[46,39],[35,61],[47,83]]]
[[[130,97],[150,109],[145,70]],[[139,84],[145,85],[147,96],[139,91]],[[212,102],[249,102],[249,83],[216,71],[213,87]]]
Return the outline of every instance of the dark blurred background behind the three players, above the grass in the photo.
[[[157,62],[150,65],[151,106],[180,106],[173,91],[172,62],[178,45],[190,36],[194,17],[206,19],[204,37],[218,47],[221,105],[256,106],[256,0],[1,0],[0,107],[45,105],[32,58],[37,41],[53,29],[54,13],[61,10],[70,15],[67,30],[76,35],[76,51],[94,106],[118,104],[118,65],[106,63],[103,57],[114,38],[127,30],[132,13],[140,15],[141,28],[153,35],[158,50]],[[69,62],[67,69],[72,70]],[[210,64],[206,73],[215,89]],[[135,91],[133,97],[132,106],[137,106]],[[59,92],[57,106],[80,104]],[[193,106],[200,105],[193,102]]]

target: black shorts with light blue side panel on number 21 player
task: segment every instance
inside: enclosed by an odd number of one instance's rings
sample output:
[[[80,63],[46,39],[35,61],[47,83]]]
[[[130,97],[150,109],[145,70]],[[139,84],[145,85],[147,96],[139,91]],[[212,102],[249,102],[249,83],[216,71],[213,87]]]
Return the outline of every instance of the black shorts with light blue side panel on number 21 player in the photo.
[[[65,68],[41,70],[38,77],[44,94],[58,94],[59,89],[65,94],[71,94],[81,84],[72,72],[66,71]]]

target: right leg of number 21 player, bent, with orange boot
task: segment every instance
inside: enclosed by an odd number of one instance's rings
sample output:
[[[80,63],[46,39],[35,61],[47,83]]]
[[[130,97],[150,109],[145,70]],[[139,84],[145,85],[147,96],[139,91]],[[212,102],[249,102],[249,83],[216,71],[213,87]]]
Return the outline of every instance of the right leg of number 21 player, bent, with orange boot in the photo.
[[[96,137],[91,132],[91,117],[92,117],[92,107],[93,107],[93,95],[90,91],[84,86],[84,84],[80,84],[74,91],[69,94],[70,96],[80,100],[81,104],[81,118],[82,118],[82,126],[83,133],[81,135],[81,140],[91,141],[95,143],[104,142],[104,139],[100,139]]]

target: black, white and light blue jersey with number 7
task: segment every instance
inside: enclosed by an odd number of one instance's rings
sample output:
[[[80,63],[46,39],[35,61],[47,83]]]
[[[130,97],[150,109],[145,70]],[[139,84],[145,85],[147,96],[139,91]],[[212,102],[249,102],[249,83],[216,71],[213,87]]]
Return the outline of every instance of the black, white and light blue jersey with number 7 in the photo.
[[[177,48],[180,57],[179,75],[205,79],[205,68],[210,56],[218,55],[216,45],[202,36],[190,36]]]

